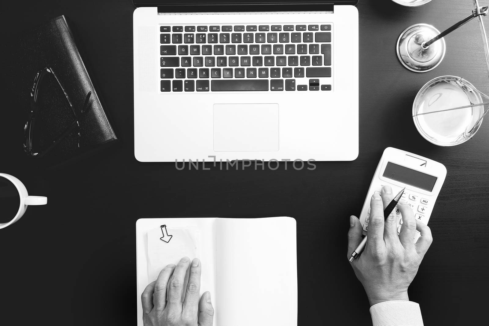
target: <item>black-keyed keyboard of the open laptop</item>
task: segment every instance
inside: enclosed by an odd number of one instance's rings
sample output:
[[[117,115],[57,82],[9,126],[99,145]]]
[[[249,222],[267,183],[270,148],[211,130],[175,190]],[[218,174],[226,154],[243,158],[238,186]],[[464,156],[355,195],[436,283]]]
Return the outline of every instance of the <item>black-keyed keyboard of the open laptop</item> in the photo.
[[[332,26],[160,25],[160,90],[330,91]]]

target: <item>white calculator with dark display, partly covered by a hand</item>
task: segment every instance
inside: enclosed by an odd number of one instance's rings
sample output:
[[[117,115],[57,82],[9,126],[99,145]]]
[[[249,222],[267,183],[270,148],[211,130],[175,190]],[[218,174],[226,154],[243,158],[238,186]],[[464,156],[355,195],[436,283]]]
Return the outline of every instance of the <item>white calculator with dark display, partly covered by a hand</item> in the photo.
[[[370,222],[370,200],[374,193],[380,195],[384,185],[392,187],[392,196],[396,196],[402,188],[406,187],[401,199],[411,206],[417,220],[428,224],[445,176],[446,168],[441,163],[392,147],[386,148],[378,163],[360,214],[363,234],[367,234]],[[402,218],[397,206],[395,211],[398,217],[399,234]],[[419,237],[420,233],[416,231],[414,242],[418,241]]]

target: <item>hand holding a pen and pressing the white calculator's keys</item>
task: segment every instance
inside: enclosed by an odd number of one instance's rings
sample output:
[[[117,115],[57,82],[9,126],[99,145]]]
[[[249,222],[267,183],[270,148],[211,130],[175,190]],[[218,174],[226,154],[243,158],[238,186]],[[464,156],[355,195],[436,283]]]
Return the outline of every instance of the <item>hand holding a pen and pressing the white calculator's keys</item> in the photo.
[[[399,236],[395,212],[384,222],[384,209],[393,198],[389,186],[382,188],[381,196],[372,196],[367,243],[362,254],[351,263],[371,306],[383,301],[409,300],[407,288],[433,241],[430,228],[417,221],[411,207],[402,200],[399,209],[403,223]],[[413,243],[416,230],[421,233],[421,237]],[[360,221],[352,216],[348,231],[348,258],[361,240]]]

